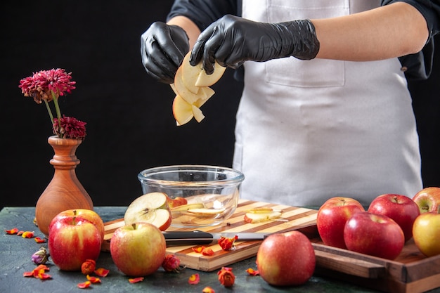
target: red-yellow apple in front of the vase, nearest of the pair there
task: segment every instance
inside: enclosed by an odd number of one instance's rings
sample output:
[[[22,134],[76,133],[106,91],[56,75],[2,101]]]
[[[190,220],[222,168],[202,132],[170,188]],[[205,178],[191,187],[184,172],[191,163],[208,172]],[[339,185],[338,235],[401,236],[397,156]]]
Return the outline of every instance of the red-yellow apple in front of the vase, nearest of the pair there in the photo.
[[[49,254],[60,270],[81,271],[84,261],[98,259],[101,231],[82,215],[54,218],[48,231]]]

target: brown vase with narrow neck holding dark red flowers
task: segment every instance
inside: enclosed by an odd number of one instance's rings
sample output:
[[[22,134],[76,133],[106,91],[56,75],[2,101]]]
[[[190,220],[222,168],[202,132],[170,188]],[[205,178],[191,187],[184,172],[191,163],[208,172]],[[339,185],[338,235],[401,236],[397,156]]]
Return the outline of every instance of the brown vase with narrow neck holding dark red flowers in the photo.
[[[48,143],[55,152],[50,161],[55,168],[55,173],[51,182],[40,195],[35,207],[38,228],[46,237],[48,236],[49,224],[61,211],[93,209],[91,197],[75,173],[75,168],[79,164],[75,152],[82,140],[50,136]]]

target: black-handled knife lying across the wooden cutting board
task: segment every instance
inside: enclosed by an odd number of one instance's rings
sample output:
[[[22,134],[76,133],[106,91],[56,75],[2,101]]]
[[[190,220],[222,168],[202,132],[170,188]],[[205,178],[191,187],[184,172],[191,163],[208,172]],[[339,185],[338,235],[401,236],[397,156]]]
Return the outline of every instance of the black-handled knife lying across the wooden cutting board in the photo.
[[[200,230],[194,231],[164,231],[167,246],[169,245],[204,245],[221,237],[232,238],[238,236],[237,241],[264,240],[271,233],[208,233]]]

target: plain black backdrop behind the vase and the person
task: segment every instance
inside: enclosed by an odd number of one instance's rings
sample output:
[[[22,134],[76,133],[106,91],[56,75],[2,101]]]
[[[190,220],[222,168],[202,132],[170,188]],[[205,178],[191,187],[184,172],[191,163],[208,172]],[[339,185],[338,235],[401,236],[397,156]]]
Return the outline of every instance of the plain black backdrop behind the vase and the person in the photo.
[[[87,122],[77,176],[95,205],[127,205],[141,195],[137,174],[168,164],[230,167],[242,85],[226,70],[202,123],[176,126],[174,93],[141,64],[140,36],[164,20],[171,0],[3,1],[1,6],[1,202],[33,206],[53,176],[44,104],[22,96],[20,79],[39,70],[72,72],[77,89],[63,114]],[[438,58],[435,61],[439,63]],[[438,67],[438,66],[437,66]],[[410,84],[425,185],[440,186],[439,75]],[[276,150],[274,150],[276,151]]]

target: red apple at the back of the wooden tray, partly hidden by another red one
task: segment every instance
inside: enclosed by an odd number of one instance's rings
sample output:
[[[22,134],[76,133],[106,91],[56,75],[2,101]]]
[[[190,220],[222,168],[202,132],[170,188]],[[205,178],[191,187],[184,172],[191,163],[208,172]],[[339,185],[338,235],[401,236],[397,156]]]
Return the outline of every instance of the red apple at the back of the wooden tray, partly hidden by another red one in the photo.
[[[406,195],[387,193],[379,195],[370,203],[368,211],[389,216],[403,230],[405,242],[413,237],[413,223],[420,214],[418,205]]]

